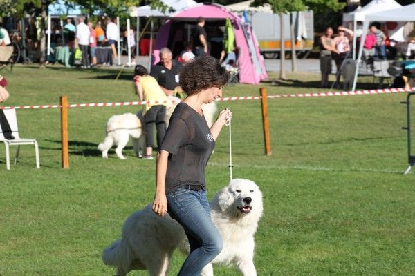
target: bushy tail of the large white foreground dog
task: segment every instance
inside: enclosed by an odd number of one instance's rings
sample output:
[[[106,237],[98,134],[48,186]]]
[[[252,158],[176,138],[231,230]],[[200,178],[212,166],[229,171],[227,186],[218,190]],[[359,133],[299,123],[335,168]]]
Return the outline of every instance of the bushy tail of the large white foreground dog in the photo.
[[[132,253],[129,251],[129,246],[122,239],[118,239],[111,246],[104,249],[102,252],[102,262],[107,264],[107,266],[116,266],[119,272],[123,271],[127,274],[132,256]]]

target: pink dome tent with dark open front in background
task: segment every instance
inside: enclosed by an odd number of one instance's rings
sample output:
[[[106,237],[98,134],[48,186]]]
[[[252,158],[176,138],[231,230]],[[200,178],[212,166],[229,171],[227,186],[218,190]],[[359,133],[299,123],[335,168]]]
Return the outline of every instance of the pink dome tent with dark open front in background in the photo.
[[[158,53],[163,47],[169,47],[175,54],[176,45],[183,45],[183,42],[189,39],[190,28],[193,28],[198,17],[204,17],[206,20],[205,28],[217,28],[225,26],[225,19],[229,18],[232,22],[235,43],[238,48],[237,63],[240,68],[239,81],[241,83],[257,84],[261,80],[268,77],[264,66],[264,60],[259,53],[257,39],[252,34],[252,28],[248,23],[243,23],[241,17],[227,10],[224,6],[211,3],[199,4],[191,8],[187,8],[181,12],[169,17],[169,20],[161,26],[156,37],[156,46],[153,52],[153,64],[160,60]],[[211,28],[211,30],[213,30]],[[186,37],[187,34],[187,37]],[[212,37],[208,32],[208,40],[214,43],[218,37]],[[221,42],[216,43],[221,45]],[[214,53],[211,51],[211,54]],[[215,55],[214,55],[215,56]],[[217,51],[216,51],[217,57]]]

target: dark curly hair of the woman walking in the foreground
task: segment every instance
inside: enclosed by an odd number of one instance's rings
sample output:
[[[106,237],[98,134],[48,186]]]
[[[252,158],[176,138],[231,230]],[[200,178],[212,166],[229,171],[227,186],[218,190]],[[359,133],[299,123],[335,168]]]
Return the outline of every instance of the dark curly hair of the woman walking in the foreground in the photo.
[[[229,73],[218,59],[210,56],[195,57],[186,63],[179,72],[179,85],[187,96],[195,95],[203,89],[221,88],[228,83]]]

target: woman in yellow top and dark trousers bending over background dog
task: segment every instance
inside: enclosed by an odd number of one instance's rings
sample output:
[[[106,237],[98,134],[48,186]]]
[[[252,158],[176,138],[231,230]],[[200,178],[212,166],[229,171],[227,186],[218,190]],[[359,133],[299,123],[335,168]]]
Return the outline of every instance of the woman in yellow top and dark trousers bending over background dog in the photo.
[[[136,94],[140,101],[147,101],[144,106],[143,115],[145,121],[145,132],[147,138],[147,148],[143,159],[153,159],[152,152],[154,148],[154,124],[157,130],[157,145],[160,146],[165,136],[165,115],[167,106],[167,96],[161,90],[156,79],[149,75],[144,66],[134,68],[134,85]]]

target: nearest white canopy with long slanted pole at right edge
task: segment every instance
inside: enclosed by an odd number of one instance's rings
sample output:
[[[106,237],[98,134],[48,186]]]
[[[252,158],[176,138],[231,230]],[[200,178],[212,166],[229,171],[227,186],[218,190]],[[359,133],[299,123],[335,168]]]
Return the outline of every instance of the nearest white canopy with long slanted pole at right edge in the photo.
[[[365,20],[363,21],[363,34],[362,37],[366,37],[367,28],[369,28],[369,23],[373,21],[398,21],[398,22],[408,22],[408,21],[415,21],[415,3],[407,6],[401,6],[400,8],[396,8],[393,10],[385,10],[383,12],[376,12],[372,14],[367,14]],[[356,83],[358,81],[358,68],[360,61],[362,59],[362,52],[363,52],[363,44],[360,43],[355,77],[353,80],[353,88],[352,90],[356,90]]]

